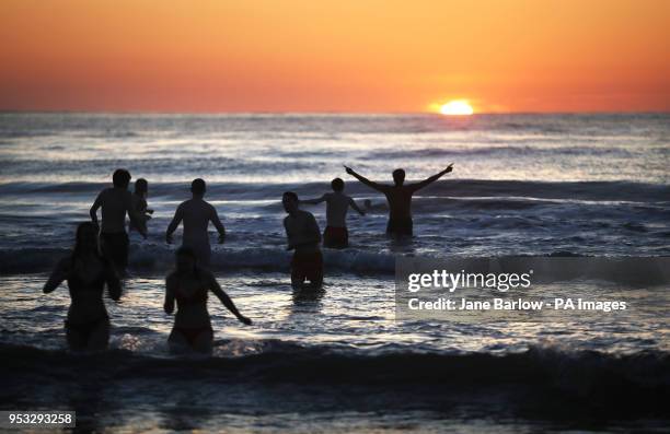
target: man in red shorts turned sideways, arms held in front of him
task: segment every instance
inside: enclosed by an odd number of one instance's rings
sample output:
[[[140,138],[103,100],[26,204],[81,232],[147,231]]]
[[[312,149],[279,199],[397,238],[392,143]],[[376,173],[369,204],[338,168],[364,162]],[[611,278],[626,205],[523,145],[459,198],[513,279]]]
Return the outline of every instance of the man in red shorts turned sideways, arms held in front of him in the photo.
[[[313,289],[320,288],[323,283],[323,257],[319,248],[319,224],[314,215],[298,208],[300,201],[293,191],[285,192],[281,203],[288,213],[284,219],[288,250],[293,250],[291,285],[301,288],[309,280]]]

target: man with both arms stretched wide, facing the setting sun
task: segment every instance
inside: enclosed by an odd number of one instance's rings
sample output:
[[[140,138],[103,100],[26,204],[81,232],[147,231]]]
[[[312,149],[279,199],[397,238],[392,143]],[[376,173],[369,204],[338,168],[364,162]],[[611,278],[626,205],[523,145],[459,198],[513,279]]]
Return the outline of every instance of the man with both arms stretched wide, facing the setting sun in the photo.
[[[452,171],[453,164],[450,164],[442,172],[432,175],[431,177],[421,180],[416,184],[405,185],[405,171],[396,168],[393,171],[394,185],[389,186],[384,184],[377,184],[370,179],[357,174],[353,168],[345,166],[345,169],[349,175],[356,177],[365,185],[370,188],[381,191],[386,196],[389,202],[389,223],[386,224],[386,234],[394,237],[412,236],[413,223],[412,223],[412,195],[415,191],[435,183],[444,174]]]

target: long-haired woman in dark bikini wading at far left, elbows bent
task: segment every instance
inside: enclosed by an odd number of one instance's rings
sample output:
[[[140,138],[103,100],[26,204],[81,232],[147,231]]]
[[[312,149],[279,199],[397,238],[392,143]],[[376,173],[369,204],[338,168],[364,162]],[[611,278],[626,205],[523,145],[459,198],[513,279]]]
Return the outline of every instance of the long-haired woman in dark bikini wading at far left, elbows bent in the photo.
[[[100,255],[97,247],[97,226],[91,222],[81,223],[77,227],[72,254],[58,262],[43,289],[48,294],[62,281],[68,281],[72,303],[68,309],[66,336],[71,350],[107,348],[109,316],[103,302],[105,284],[109,298],[118,301],[122,294],[116,270]]]

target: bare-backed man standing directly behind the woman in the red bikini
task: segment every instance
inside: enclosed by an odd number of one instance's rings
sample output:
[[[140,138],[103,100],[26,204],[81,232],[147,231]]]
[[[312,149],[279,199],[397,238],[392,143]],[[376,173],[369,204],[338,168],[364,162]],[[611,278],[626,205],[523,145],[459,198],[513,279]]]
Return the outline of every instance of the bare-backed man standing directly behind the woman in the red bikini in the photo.
[[[211,247],[209,246],[209,234],[207,227],[209,222],[213,223],[217,231],[219,231],[219,244],[223,244],[226,241],[226,228],[219,220],[217,210],[208,202],[203,199],[207,186],[205,180],[197,178],[190,184],[190,192],[193,198],[182,202],[177,207],[174,218],[168,226],[168,233],[165,234],[165,241],[168,244],[172,243],[172,234],[176,231],[177,226],[184,221],[184,235],[182,245],[190,247],[198,258],[198,263],[201,267],[209,267],[209,260],[211,257]]]

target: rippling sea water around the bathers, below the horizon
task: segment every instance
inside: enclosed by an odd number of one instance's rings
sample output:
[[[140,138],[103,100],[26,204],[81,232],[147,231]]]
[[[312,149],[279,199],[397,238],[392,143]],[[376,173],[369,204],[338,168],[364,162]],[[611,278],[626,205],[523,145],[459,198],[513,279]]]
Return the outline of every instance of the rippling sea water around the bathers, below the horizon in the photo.
[[[415,195],[413,243],[383,236],[383,196],[343,168],[413,181],[450,163]],[[667,256],[669,164],[669,115],[2,114],[0,408],[74,410],[99,431],[662,431],[668,288],[570,282],[632,308],[555,324],[400,321],[393,291],[401,255]],[[107,303],[112,349],[71,354],[67,289],[41,290],[117,167],[149,180],[150,235]],[[210,234],[212,269],[254,320],[210,300],[211,357],[170,355],[162,309],[181,235],[164,232],[196,177],[228,233]],[[304,296],[281,193],[320,197],[334,177],[370,206],[349,214],[351,246],[324,251],[324,293]],[[323,228],[323,206],[305,209]]]

